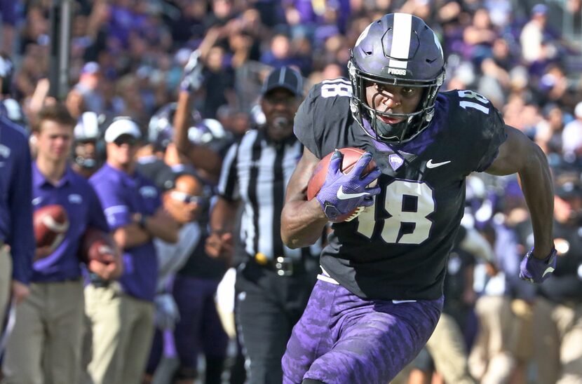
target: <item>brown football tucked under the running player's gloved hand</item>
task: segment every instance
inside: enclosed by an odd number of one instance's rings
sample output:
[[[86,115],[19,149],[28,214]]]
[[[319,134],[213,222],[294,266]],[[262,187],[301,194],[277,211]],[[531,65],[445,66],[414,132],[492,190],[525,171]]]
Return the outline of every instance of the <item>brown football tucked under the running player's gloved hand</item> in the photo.
[[[344,154],[344,159],[341,162],[341,172],[344,172],[344,174],[348,174],[348,172],[352,170],[353,166],[356,165],[356,163],[358,163],[360,157],[362,157],[362,155],[365,153],[363,149],[359,148],[341,148],[339,149],[339,151]],[[333,152],[328,153],[327,156],[325,156],[319,161],[318,165],[316,165],[315,170],[313,170],[313,175],[311,175],[311,179],[309,179],[309,184],[307,184],[307,200],[315,198],[321,186],[323,186],[323,183],[325,182],[325,177],[327,177],[327,167],[330,166],[330,160],[332,158],[332,155]],[[365,170],[362,172],[362,176],[365,176],[366,174],[370,173],[372,170],[374,170],[375,167],[376,162],[374,161],[374,159],[372,159],[372,161],[370,161]],[[375,181],[370,186],[373,185],[375,185]],[[337,217],[337,219],[333,220],[333,222],[339,223],[342,221],[351,221],[358,217],[358,214],[362,213],[363,210],[364,207],[358,207],[355,210],[348,212],[347,214],[343,214]]]

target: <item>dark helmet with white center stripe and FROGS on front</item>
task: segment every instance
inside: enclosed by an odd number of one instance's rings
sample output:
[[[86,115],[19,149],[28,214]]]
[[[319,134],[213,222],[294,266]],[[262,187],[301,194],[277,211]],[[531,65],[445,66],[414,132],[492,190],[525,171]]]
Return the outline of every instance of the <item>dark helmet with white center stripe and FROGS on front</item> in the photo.
[[[433,118],[437,92],[445,81],[445,57],[438,37],[421,18],[389,13],[360,34],[348,72],[353,86],[351,112],[367,135],[384,142],[407,142]],[[372,83],[424,88],[424,92],[412,114],[390,114],[367,104],[366,87]],[[388,124],[378,116],[404,120]]]

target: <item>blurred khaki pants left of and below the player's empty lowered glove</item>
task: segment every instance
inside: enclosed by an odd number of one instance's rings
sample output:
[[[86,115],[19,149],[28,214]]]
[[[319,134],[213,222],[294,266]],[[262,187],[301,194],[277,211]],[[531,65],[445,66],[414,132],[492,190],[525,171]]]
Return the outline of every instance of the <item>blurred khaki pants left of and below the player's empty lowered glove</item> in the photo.
[[[475,314],[479,333],[469,355],[469,371],[481,384],[508,383],[515,365],[511,300],[506,296],[481,296]]]

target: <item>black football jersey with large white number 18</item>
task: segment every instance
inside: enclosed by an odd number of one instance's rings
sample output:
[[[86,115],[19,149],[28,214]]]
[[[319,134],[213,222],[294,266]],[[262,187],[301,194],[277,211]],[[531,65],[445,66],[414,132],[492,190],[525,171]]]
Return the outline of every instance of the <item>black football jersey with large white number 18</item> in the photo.
[[[318,158],[358,147],[372,153],[382,172],[374,205],[353,221],[333,224],[321,266],[365,299],[438,299],[463,217],[465,177],[496,158],[506,139],[503,119],[476,92],[442,92],[426,130],[388,145],[354,120],[350,97],[346,79],[323,81],[295,116],[295,134]]]

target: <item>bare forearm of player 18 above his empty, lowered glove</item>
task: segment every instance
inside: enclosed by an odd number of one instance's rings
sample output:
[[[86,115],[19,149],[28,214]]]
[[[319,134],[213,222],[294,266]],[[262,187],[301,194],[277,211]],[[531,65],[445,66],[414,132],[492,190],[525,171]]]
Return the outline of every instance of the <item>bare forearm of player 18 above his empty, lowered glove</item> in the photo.
[[[554,193],[546,155],[532,144],[525,167],[519,172],[534,229],[534,257],[545,259],[553,247]]]

